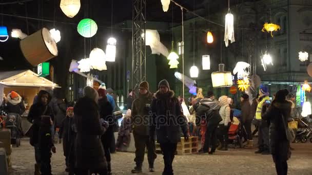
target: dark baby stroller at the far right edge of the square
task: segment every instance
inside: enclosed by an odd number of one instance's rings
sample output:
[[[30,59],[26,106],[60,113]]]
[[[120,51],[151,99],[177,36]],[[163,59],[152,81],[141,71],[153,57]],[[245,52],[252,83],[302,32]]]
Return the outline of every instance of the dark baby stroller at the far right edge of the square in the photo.
[[[296,119],[298,129],[296,132],[295,143],[306,143],[308,140],[312,143],[312,126],[306,118]]]

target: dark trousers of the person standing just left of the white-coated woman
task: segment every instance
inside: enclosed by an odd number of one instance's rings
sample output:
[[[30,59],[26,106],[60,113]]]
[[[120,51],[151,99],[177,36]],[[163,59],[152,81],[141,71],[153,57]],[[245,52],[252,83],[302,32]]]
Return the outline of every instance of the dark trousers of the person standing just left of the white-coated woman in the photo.
[[[208,152],[211,146],[211,152],[216,151],[217,145],[217,128],[218,124],[207,123],[207,130],[205,133],[205,143],[203,151]]]

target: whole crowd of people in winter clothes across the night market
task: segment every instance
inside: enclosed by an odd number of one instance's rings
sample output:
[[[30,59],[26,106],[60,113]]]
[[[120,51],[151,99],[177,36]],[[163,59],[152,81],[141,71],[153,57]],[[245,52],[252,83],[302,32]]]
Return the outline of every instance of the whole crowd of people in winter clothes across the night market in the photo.
[[[72,106],[66,106],[64,101],[57,99],[51,105],[50,93],[41,90],[27,118],[32,123],[30,144],[35,152],[35,174],[51,174],[50,159],[52,152],[56,151],[53,142],[55,132],[59,134],[60,143],[63,142],[66,172],[69,174],[111,174],[110,154],[115,149],[128,146],[131,132],[135,143],[135,167],[131,173],[142,172],[146,149],[148,169],[154,171],[157,158],[155,141],[163,153],[164,175],[173,174],[172,162],[181,136],[185,140],[192,135],[200,136],[202,148],[199,154],[211,155],[217,149],[228,150],[228,131],[236,116],[231,98],[223,95],[217,100],[212,91],[204,97],[203,90],[198,88],[197,96],[189,100],[189,112],[196,116],[192,120],[185,117],[181,105],[184,99],[175,97],[167,80],[160,81],[158,88],[153,94],[149,91],[148,82],[143,81],[139,85],[138,97],[130,92],[127,106],[131,107],[127,107],[116,144],[113,111],[118,110],[118,105],[110,89],[100,87],[96,91],[86,86],[83,97]],[[253,123],[258,129],[259,150],[255,153],[271,154],[278,174],[287,174],[287,160],[290,158],[287,120],[294,107],[286,100],[288,94],[287,90],[280,90],[271,100],[268,88],[261,85],[256,98],[250,99],[247,94],[240,98],[239,118],[246,142],[244,147],[253,147]],[[12,91],[2,107],[22,115],[25,107],[21,103],[21,96]],[[194,130],[200,130],[199,134]]]

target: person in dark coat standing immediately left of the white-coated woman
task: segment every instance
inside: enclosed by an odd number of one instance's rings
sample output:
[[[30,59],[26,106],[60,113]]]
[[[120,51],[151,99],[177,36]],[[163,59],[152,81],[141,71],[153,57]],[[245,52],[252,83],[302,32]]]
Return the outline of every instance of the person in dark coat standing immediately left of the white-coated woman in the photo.
[[[222,118],[219,114],[219,101],[214,99],[212,92],[208,92],[207,97],[208,98],[201,100],[200,103],[195,104],[194,109],[196,110],[197,121],[204,119],[207,123],[204,146],[199,154],[205,154],[208,152],[211,155],[216,151],[218,141],[217,128],[218,124],[222,121]]]

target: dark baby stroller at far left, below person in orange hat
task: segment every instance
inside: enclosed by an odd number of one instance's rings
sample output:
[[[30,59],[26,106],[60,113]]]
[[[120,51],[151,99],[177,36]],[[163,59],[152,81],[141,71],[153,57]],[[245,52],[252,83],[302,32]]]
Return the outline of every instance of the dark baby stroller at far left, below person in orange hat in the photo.
[[[21,136],[23,134],[21,116],[16,113],[8,113],[5,123],[5,127],[11,130],[11,144],[18,147],[21,145]]]

